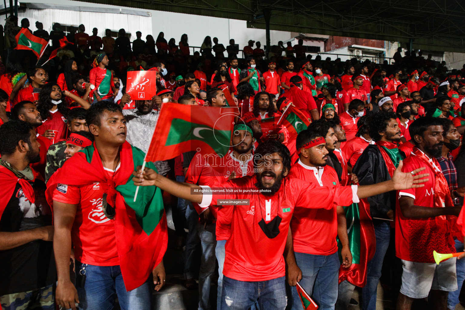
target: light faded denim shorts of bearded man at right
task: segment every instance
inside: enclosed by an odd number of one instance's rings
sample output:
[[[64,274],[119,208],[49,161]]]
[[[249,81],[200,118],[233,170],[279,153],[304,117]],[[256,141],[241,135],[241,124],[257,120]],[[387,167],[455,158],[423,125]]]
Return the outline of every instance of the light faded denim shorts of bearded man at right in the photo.
[[[430,290],[457,290],[456,257],[437,265],[402,259],[402,285],[400,292],[411,298],[428,297]]]

